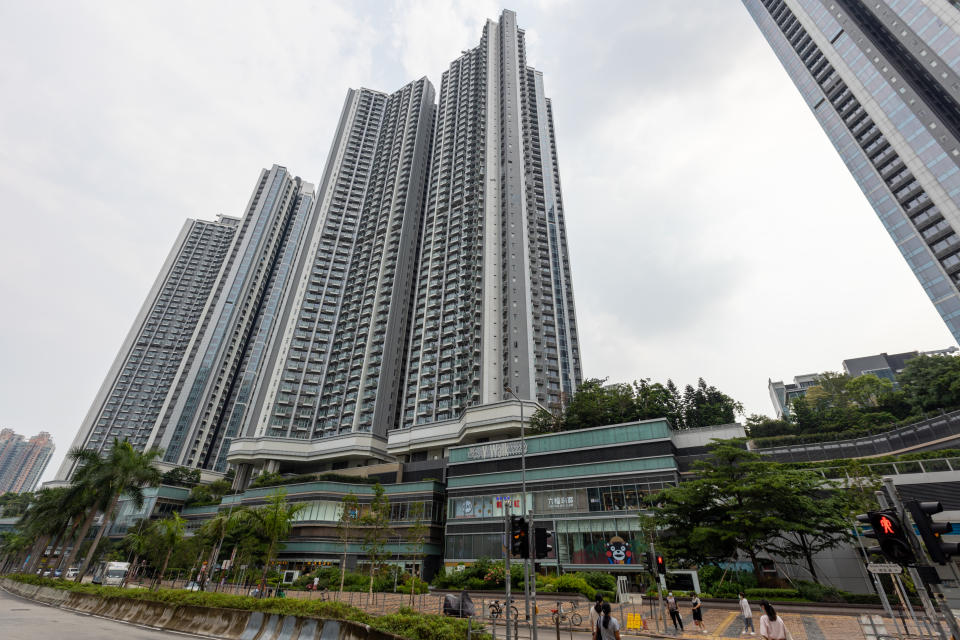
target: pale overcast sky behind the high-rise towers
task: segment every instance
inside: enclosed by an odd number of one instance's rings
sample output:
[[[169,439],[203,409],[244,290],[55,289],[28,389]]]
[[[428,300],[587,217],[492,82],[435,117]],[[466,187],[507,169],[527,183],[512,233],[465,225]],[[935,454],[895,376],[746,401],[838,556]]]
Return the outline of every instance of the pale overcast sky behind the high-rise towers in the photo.
[[[743,6],[0,2],[0,427],[69,448],[184,221],[318,182],[348,87],[515,9],[553,99],[584,375],[767,379],[954,344]]]

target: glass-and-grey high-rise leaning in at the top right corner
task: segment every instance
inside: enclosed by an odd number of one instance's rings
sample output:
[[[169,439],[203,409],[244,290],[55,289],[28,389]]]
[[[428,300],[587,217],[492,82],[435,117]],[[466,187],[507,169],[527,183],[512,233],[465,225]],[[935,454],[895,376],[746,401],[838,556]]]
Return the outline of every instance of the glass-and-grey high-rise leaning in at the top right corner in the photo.
[[[946,0],[744,0],[960,340],[960,13]]]

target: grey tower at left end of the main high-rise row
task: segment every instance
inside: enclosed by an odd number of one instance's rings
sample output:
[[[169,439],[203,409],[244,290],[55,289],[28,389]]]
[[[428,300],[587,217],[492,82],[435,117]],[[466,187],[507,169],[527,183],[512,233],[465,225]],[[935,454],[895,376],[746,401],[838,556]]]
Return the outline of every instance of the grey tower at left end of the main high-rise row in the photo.
[[[187,220],[73,441],[104,452],[114,438],[146,447],[215,288],[239,220]],[[73,463],[57,472],[66,480]]]

